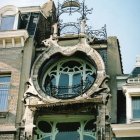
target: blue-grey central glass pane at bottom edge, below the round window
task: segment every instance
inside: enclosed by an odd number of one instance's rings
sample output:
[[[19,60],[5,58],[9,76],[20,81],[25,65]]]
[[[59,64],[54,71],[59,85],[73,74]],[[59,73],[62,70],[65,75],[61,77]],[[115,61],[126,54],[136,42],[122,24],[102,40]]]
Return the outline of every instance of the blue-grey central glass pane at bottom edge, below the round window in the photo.
[[[55,140],[79,140],[80,135],[78,132],[59,132]]]

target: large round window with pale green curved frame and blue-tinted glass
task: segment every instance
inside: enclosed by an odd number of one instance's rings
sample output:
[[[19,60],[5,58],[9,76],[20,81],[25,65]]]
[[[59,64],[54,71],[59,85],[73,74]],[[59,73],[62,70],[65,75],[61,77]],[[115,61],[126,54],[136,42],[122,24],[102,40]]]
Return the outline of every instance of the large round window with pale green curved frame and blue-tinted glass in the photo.
[[[40,87],[46,95],[70,99],[86,92],[96,79],[96,68],[79,57],[55,57],[40,72]]]

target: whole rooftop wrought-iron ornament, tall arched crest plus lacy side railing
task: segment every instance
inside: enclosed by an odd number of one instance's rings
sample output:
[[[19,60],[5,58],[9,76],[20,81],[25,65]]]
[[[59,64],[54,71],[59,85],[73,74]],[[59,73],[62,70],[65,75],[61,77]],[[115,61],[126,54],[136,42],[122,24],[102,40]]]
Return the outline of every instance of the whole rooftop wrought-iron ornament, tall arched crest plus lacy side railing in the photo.
[[[87,38],[89,43],[92,43],[94,39],[107,40],[106,25],[100,30],[92,30],[89,26],[87,26],[87,15],[92,14],[92,10],[93,9],[87,8],[85,0],[81,3],[79,0],[64,0],[62,4],[58,2],[57,22],[60,36],[85,34],[88,36]],[[72,15],[75,12],[80,13],[81,15],[78,17],[78,22],[63,23],[60,18],[62,14],[67,13]]]

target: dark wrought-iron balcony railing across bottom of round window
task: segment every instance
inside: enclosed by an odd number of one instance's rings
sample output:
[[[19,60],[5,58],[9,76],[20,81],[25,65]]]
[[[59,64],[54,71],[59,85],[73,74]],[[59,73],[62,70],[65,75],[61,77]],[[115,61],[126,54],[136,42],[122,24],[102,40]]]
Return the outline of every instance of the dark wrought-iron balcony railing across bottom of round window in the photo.
[[[55,98],[69,99],[82,95],[90,88],[91,85],[92,82],[89,79],[86,79],[85,81],[81,80],[80,84],[76,84],[73,86],[57,87],[55,85],[50,84],[50,87],[47,87],[46,89],[46,93]]]

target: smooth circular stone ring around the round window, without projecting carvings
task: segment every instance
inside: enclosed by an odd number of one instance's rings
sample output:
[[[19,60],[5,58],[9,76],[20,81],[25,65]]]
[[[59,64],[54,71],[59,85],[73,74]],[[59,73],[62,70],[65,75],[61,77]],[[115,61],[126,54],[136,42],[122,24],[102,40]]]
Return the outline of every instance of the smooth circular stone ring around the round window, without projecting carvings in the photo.
[[[87,44],[78,44],[73,47],[61,47],[61,46],[56,46],[55,44],[51,45],[49,50],[44,51],[35,61],[31,76],[32,76],[32,81],[34,84],[35,89],[37,90],[39,96],[47,102],[59,102],[62,101],[62,99],[56,99],[54,97],[49,97],[48,95],[45,95],[43,90],[40,88],[40,85],[38,83],[38,74],[39,74],[39,69],[43,66],[43,63],[47,60],[49,60],[52,56],[60,53],[63,56],[72,56],[76,52],[83,52],[92,62],[95,63],[97,66],[97,77],[94,82],[94,84],[91,86],[87,92],[85,92],[82,96],[75,97],[75,100],[80,100],[80,99],[85,99],[85,95],[91,96],[98,90],[100,85],[102,84],[103,80],[106,78],[106,73],[105,73],[105,65],[104,62],[99,55],[99,53],[88,46]],[[64,102],[69,102],[71,99],[63,100]]]

